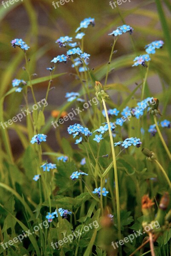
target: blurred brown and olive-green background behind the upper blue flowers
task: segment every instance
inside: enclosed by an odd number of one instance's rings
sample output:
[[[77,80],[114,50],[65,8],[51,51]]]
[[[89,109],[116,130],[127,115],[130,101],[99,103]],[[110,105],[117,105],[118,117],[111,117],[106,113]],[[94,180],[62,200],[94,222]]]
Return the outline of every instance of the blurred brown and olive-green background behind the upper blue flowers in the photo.
[[[58,2],[55,0],[55,2]],[[25,65],[23,52],[20,49],[11,47],[10,41],[14,38],[22,38],[30,49],[27,56],[30,58],[29,68],[31,73],[36,73],[37,77],[48,76],[49,71],[46,67],[51,66],[52,58],[57,55],[65,54],[65,48],[59,48],[55,41],[61,36],[68,35],[75,38],[75,29],[81,20],[86,17],[94,17],[96,26],[90,26],[86,30],[84,37],[84,51],[89,53],[90,68],[94,68],[93,75],[96,80],[104,82],[102,67],[107,65],[109,60],[111,43],[113,37],[108,34],[126,23],[134,28],[133,34],[128,33],[119,38],[113,55],[108,83],[123,84],[128,90],[121,93],[110,90],[110,97],[113,102],[120,104],[123,95],[128,95],[136,87],[136,83],[142,81],[142,72],[139,68],[131,67],[133,59],[140,54],[145,54],[145,45],[154,40],[165,41],[167,28],[165,23],[160,22],[160,9],[157,9],[156,2],[162,4],[168,29],[171,31],[171,1],[155,0],[127,0],[116,8],[109,5],[109,0],[70,0],[64,5],[55,7],[51,0],[18,0],[13,5],[9,4],[6,8],[0,6],[0,98],[12,88],[14,78],[27,81],[26,72],[22,69]],[[113,1],[112,1],[113,2]],[[6,3],[6,1],[4,1]],[[169,36],[163,49],[158,50],[152,56],[148,85],[150,95],[157,96],[161,102],[160,108],[167,115],[171,111],[171,105],[165,106],[165,97],[171,95],[168,90],[171,81],[171,50],[169,49]],[[171,45],[171,44],[170,44]],[[170,51],[170,53],[169,53]],[[170,54],[170,55],[169,55]],[[74,70],[71,63],[60,64],[55,73],[67,72],[53,80],[52,87],[48,96],[48,106],[45,109],[46,122],[51,120],[51,111],[58,110],[66,102],[66,92],[77,91],[80,88],[78,80],[71,75]],[[48,82],[36,84],[34,91],[37,101],[45,98]],[[137,91],[139,99],[140,90]],[[170,97],[170,96],[169,96]],[[171,104],[171,101],[168,101]],[[31,92],[29,92],[29,104],[33,104]],[[70,112],[73,106],[67,109]],[[8,120],[21,112],[24,108],[23,96],[21,93],[12,93],[7,96],[4,102],[4,120]],[[78,121],[78,120],[75,120]],[[22,119],[24,125],[26,119]],[[69,122],[60,129],[55,129],[52,125],[48,128],[48,143],[54,150],[61,148],[58,137],[67,137],[67,127]],[[0,127],[2,130],[2,127]],[[57,131],[58,130],[58,131]],[[19,140],[17,132],[11,126],[8,129],[9,137],[12,142],[12,151],[15,157],[23,152],[23,144]],[[24,133],[24,131],[23,131]],[[57,140],[54,140],[54,137]]]

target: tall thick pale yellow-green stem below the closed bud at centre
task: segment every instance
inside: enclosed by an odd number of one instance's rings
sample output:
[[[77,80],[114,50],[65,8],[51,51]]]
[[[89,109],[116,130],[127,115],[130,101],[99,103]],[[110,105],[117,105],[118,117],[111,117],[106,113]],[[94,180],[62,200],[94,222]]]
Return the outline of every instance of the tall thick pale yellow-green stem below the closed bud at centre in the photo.
[[[102,98],[103,106],[104,106],[104,111],[106,114],[106,119],[107,119],[107,125],[109,128],[109,135],[110,135],[110,143],[111,143],[111,148],[112,148],[112,157],[113,157],[113,167],[114,167],[114,175],[115,175],[115,188],[116,188],[116,207],[117,207],[117,221],[118,221],[118,239],[121,239],[121,216],[120,216],[120,203],[119,203],[119,186],[118,186],[118,174],[117,174],[117,166],[116,166],[116,156],[115,156],[115,148],[114,148],[114,143],[113,143],[113,136],[112,136],[112,131],[110,129],[110,121],[109,121],[109,116],[107,113],[107,108],[104,99]],[[119,247],[119,255],[122,256],[122,249]]]

